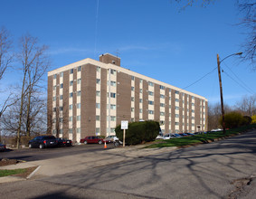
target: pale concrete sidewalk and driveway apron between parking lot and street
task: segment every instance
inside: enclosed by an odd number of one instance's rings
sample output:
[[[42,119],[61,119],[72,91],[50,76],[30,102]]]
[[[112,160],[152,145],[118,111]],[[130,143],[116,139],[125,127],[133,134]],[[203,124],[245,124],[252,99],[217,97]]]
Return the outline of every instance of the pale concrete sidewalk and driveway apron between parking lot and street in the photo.
[[[109,150],[102,150],[97,152],[84,153],[75,156],[62,156],[52,159],[31,161],[19,163],[11,166],[1,166],[0,169],[18,169],[38,166],[32,175],[27,178],[6,176],[0,177],[0,184],[26,180],[36,179],[43,176],[52,175],[66,175],[71,172],[76,172],[97,166],[106,166],[109,164],[116,164],[122,161],[128,161],[133,158],[141,156],[151,156],[161,153],[170,152],[176,147],[163,148],[142,148],[145,145],[131,146],[131,147],[117,147]]]

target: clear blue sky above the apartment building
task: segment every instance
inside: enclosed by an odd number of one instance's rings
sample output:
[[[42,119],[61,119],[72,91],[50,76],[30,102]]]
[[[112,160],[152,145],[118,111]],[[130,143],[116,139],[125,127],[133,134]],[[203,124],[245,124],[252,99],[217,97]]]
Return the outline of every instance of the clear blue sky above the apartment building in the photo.
[[[236,25],[242,15],[233,0],[185,11],[174,0],[1,0],[0,5],[0,26],[12,33],[14,43],[30,33],[50,46],[50,70],[119,52],[122,67],[186,88],[210,103],[220,101],[216,54],[222,59],[240,52],[246,38],[246,30]],[[248,62],[232,56],[222,67],[225,103],[255,93],[256,71]],[[8,71],[1,84],[14,80],[21,80],[18,73]]]

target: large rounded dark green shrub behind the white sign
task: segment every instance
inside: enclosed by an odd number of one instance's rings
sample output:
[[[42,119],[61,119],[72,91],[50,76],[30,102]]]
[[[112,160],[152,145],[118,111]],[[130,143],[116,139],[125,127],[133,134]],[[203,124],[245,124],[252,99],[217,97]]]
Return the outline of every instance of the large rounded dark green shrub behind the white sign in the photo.
[[[157,121],[128,123],[128,129],[126,130],[126,144],[137,145],[144,141],[153,141],[159,134],[159,130],[159,122]],[[115,131],[119,140],[123,141],[123,130],[121,129],[121,126],[119,125]]]

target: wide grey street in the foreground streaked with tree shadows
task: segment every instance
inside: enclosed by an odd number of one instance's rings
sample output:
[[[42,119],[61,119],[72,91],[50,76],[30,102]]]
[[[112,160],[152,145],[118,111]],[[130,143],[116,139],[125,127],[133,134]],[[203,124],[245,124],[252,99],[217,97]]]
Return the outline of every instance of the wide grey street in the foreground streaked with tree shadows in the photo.
[[[196,147],[165,148],[158,154],[154,150],[147,156],[142,156],[143,150],[126,153],[115,148],[94,156],[65,156],[71,161],[62,160],[63,166],[45,167],[30,180],[1,185],[1,198],[254,198],[256,194],[255,131]]]

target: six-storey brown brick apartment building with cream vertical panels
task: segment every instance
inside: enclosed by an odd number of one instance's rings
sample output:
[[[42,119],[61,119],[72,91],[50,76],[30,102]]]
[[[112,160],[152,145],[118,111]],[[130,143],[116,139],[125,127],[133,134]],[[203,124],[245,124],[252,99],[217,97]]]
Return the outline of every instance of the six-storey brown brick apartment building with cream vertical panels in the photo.
[[[109,53],[48,72],[48,130],[79,142],[121,120],[156,120],[164,134],[206,130],[207,100],[120,66]]]

